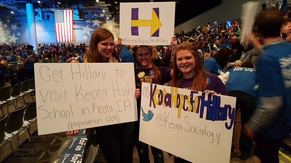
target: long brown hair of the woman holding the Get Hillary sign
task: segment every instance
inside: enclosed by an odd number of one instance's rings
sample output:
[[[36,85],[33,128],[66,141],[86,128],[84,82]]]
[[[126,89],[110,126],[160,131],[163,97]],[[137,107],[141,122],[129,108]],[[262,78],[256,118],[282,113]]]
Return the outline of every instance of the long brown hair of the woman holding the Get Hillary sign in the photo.
[[[112,37],[112,39],[114,40],[114,36],[109,30],[103,28],[95,30],[90,40],[89,49],[86,51],[86,55],[84,57],[85,63],[101,62],[101,56],[99,55],[98,51],[98,44],[103,40],[108,39],[109,37]],[[118,61],[120,60],[115,49],[113,50],[113,53],[111,55]]]

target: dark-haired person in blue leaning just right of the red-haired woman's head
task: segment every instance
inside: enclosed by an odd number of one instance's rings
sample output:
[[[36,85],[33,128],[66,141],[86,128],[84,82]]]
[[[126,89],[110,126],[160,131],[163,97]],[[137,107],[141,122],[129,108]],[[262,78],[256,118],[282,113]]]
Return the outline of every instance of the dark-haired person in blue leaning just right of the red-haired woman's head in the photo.
[[[220,75],[224,72],[229,56],[230,53],[226,48],[220,49],[213,57],[204,61],[205,70],[211,74]]]

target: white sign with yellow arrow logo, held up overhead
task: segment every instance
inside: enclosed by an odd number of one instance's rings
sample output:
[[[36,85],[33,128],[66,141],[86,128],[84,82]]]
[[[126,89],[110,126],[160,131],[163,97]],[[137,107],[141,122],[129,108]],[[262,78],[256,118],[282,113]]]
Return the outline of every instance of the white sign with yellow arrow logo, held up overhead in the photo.
[[[122,44],[170,45],[175,2],[120,3]]]

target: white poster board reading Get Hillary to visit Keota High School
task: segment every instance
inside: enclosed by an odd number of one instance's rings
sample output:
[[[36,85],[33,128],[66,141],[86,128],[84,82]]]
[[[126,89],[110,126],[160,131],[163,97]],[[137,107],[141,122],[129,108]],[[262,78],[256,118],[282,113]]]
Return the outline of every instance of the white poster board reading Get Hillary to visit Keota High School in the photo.
[[[133,63],[34,64],[38,134],[137,120]]]

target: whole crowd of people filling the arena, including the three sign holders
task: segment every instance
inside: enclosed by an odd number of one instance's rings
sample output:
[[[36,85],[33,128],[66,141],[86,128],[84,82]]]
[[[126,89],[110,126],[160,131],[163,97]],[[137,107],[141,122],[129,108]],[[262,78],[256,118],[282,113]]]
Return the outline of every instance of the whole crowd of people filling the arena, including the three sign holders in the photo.
[[[169,46],[122,45],[114,42],[106,29],[96,30],[86,44],[39,44],[37,55],[32,45],[0,45],[1,87],[9,80],[34,78],[35,62],[134,62],[137,111],[140,113],[140,88],[144,78],[154,84],[237,97],[241,112],[240,159],[254,154],[256,142],[261,163],[279,163],[279,143],[291,132],[291,11],[265,9],[258,13],[249,44],[240,44],[240,20],[188,33],[180,31]],[[210,53],[210,58],[205,59]],[[24,69],[9,78],[9,62],[22,60]],[[224,73],[229,74],[225,83]],[[25,74],[19,77],[19,74]],[[4,82],[2,82],[4,81]],[[255,88],[255,89],[254,89]],[[139,116],[138,116],[139,117]],[[90,144],[100,144],[107,163],[132,163],[136,145],[140,163],[150,163],[148,145],[138,141],[139,119],[86,130]],[[77,134],[70,131],[68,135]],[[164,163],[163,152],[152,148],[155,163]],[[232,152],[233,152],[232,147]],[[85,153],[86,155],[86,149]],[[174,157],[175,163],[188,163]]]

